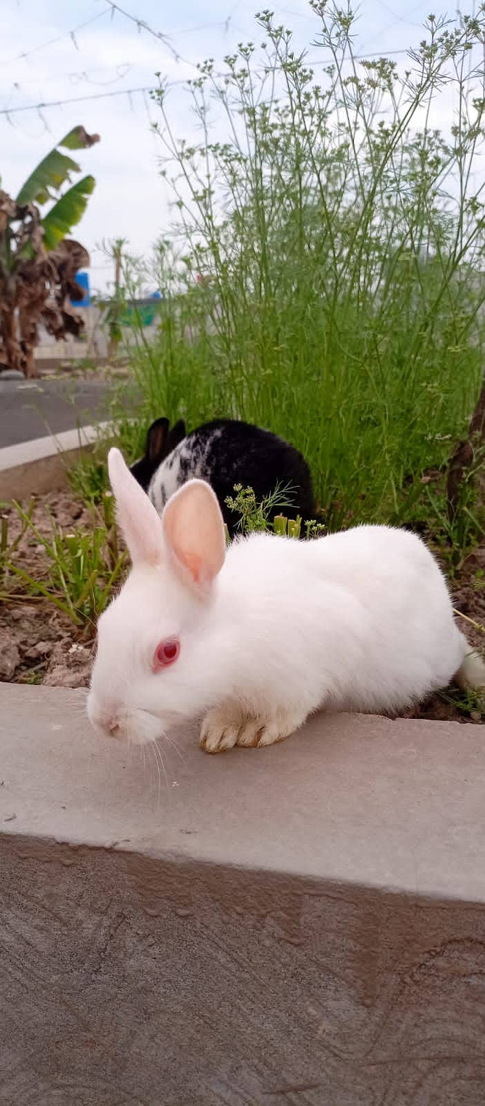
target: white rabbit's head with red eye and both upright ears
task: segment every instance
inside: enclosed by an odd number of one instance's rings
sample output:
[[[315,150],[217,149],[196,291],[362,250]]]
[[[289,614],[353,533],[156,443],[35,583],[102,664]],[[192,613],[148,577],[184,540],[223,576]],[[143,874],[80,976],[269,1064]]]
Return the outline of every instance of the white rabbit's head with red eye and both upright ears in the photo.
[[[112,449],[109,479],[133,568],[98,622],[87,712],[96,731],[144,744],[207,709],[222,672],[218,575],[225,536],[208,483],[189,480],[161,518]]]

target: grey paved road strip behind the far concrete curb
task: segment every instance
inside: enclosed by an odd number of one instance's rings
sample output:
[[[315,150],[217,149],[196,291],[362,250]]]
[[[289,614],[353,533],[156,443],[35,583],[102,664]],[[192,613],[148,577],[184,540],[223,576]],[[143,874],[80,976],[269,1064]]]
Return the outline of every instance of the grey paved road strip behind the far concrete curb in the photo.
[[[0,449],[109,418],[109,380],[0,380]]]

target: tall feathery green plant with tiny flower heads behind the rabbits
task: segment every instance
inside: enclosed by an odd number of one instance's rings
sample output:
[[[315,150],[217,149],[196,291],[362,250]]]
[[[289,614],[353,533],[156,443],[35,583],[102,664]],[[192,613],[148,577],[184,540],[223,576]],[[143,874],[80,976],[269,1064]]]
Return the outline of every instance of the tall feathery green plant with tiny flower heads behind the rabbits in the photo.
[[[294,441],[329,525],[402,521],[410,474],[450,455],[479,390],[485,18],[430,17],[402,72],[358,61],[350,10],[313,7],[318,83],[265,12],[260,51],[190,83],[198,144],[156,95],[178,222],[135,371],[150,415],[234,415]]]

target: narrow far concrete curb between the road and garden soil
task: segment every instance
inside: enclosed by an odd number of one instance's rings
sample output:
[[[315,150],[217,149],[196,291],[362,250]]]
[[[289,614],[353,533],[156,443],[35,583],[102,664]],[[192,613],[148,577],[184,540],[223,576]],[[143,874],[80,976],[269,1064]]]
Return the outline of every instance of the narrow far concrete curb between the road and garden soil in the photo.
[[[99,422],[0,449],[0,499],[23,499],[63,488],[81,453],[93,448],[99,431],[108,435],[109,429],[109,422]]]

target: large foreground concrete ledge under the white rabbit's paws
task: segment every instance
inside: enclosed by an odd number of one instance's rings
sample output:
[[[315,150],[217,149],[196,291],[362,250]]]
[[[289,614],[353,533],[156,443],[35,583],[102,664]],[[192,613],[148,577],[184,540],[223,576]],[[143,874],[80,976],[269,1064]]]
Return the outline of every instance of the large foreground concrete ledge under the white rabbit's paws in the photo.
[[[160,778],[0,686],[1,1106],[482,1106],[481,727],[334,716]]]

